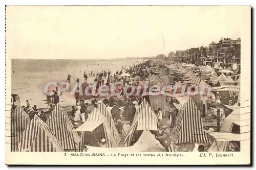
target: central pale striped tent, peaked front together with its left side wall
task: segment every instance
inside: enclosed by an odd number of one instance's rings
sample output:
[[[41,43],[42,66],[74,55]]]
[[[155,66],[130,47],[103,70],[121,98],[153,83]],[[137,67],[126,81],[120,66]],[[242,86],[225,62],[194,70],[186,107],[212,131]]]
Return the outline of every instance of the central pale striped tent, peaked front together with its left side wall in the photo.
[[[157,131],[157,116],[148,105],[137,115],[135,123],[124,139],[124,147],[130,147],[136,130],[153,130]]]

